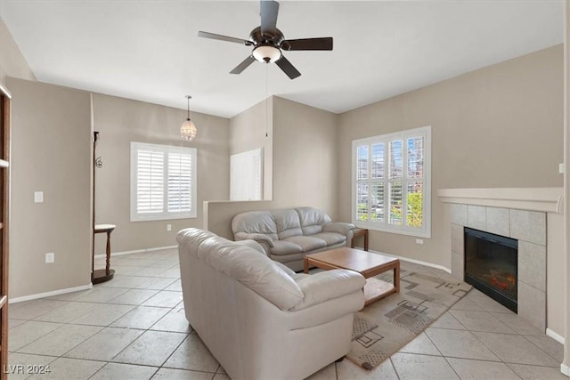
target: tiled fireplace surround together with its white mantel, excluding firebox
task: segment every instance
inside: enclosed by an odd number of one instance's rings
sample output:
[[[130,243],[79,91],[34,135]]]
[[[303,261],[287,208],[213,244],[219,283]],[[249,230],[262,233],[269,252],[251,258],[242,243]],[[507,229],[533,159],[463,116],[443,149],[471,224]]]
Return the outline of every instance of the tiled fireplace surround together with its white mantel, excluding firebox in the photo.
[[[547,327],[547,213],[562,212],[560,188],[446,189],[450,204],[452,274],[463,279],[464,227],[518,240],[518,315]]]

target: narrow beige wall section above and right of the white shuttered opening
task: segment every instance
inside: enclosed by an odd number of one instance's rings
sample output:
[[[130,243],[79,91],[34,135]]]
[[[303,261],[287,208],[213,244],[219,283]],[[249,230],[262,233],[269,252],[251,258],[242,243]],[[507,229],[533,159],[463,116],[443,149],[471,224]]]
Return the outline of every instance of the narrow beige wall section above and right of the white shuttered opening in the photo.
[[[264,150],[264,199],[273,196],[273,97],[230,119],[230,155]]]

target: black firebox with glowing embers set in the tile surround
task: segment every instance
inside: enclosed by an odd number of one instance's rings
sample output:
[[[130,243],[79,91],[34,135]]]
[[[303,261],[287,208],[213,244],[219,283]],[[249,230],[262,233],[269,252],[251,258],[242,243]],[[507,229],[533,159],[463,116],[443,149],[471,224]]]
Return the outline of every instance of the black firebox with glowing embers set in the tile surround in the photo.
[[[517,312],[518,240],[464,228],[465,282]]]

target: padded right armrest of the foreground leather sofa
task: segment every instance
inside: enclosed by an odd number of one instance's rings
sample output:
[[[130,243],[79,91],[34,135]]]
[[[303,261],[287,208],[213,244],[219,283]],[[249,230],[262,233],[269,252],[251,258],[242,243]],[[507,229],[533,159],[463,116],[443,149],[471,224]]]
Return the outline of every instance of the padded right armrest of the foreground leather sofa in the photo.
[[[323,303],[333,298],[349,295],[366,284],[366,279],[356,271],[343,269],[321,271],[297,281],[297,285],[305,295],[302,303],[290,310],[301,310],[317,303]]]

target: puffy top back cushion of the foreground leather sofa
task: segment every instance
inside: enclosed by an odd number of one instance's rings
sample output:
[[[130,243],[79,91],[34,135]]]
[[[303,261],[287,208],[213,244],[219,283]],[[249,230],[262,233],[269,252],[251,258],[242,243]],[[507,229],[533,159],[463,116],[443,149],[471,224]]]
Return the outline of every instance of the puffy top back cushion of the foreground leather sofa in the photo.
[[[305,295],[295,280],[252,247],[193,228],[178,232],[176,240],[189,255],[196,255],[214,270],[240,281],[281,310],[303,302]]]

